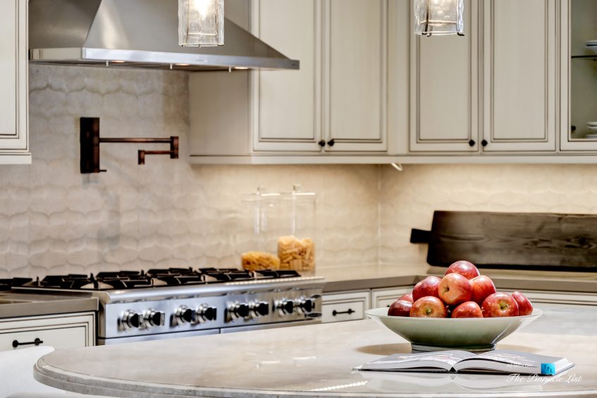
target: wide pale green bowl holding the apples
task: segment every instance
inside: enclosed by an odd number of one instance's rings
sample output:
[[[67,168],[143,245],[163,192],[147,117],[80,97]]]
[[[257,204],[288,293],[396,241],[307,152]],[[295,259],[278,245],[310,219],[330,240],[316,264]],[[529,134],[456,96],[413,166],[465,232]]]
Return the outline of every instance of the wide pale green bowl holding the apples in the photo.
[[[365,311],[369,318],[404,337],[416,351],[464,349],[487,351],[496,348],[496,342],[541,316],[534,309],[527,316],[501,318],[415,318],[388,316],[388,307]]]

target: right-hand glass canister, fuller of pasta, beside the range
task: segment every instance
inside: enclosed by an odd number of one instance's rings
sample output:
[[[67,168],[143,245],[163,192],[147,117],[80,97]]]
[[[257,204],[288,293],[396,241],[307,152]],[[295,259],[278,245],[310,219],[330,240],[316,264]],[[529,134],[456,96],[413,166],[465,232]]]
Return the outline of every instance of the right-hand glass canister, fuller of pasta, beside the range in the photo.
[[[300,185],[293,192],[281,194],[281,232],[278,237],[280,269],[315,270],[316,194],[302,192]]]

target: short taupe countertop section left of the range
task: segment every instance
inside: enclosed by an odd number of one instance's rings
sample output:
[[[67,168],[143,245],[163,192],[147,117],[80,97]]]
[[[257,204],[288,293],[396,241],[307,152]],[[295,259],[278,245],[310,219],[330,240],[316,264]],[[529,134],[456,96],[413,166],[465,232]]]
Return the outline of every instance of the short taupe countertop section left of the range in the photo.
[[[88,294],[0,292],[0,318],[97,311],[98,306]]]

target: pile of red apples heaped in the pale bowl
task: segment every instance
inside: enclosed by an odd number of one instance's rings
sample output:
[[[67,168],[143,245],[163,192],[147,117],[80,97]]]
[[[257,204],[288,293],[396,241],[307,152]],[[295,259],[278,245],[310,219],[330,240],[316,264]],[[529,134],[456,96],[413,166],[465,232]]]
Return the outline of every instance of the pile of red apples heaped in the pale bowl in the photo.
[[[388,309],[389,316],[419,318],[495,318],[531,315],[533,305],[521,292],[496,292],[491,278],[469,261],[456,261],[443,278],[428,276]]]

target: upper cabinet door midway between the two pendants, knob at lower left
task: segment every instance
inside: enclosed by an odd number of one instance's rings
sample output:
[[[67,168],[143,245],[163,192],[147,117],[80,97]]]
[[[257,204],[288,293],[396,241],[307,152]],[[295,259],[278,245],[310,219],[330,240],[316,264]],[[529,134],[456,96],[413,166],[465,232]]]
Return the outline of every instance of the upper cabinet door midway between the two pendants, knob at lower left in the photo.
[[[388,0],[324,5],[325,149],[386,151]]]

